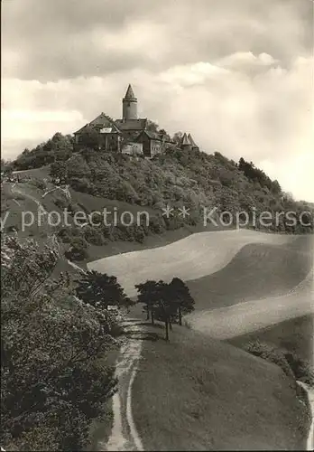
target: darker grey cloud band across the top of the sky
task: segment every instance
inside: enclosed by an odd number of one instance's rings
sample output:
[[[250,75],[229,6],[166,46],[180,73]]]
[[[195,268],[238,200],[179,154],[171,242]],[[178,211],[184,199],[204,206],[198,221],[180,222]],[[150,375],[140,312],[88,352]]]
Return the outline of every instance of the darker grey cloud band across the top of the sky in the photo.
[[[3,72],[60,80],[245,51],[288,64],[311,50],[311,7],[309,0],[4,0]]]

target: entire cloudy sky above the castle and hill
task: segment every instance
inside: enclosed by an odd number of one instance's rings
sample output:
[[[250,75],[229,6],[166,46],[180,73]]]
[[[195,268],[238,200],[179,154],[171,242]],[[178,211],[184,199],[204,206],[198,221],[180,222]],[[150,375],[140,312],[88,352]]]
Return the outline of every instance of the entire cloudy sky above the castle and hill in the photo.
[[[314,202],[312,0],[2,0],[2,156],[104,111],[190,132]]]

